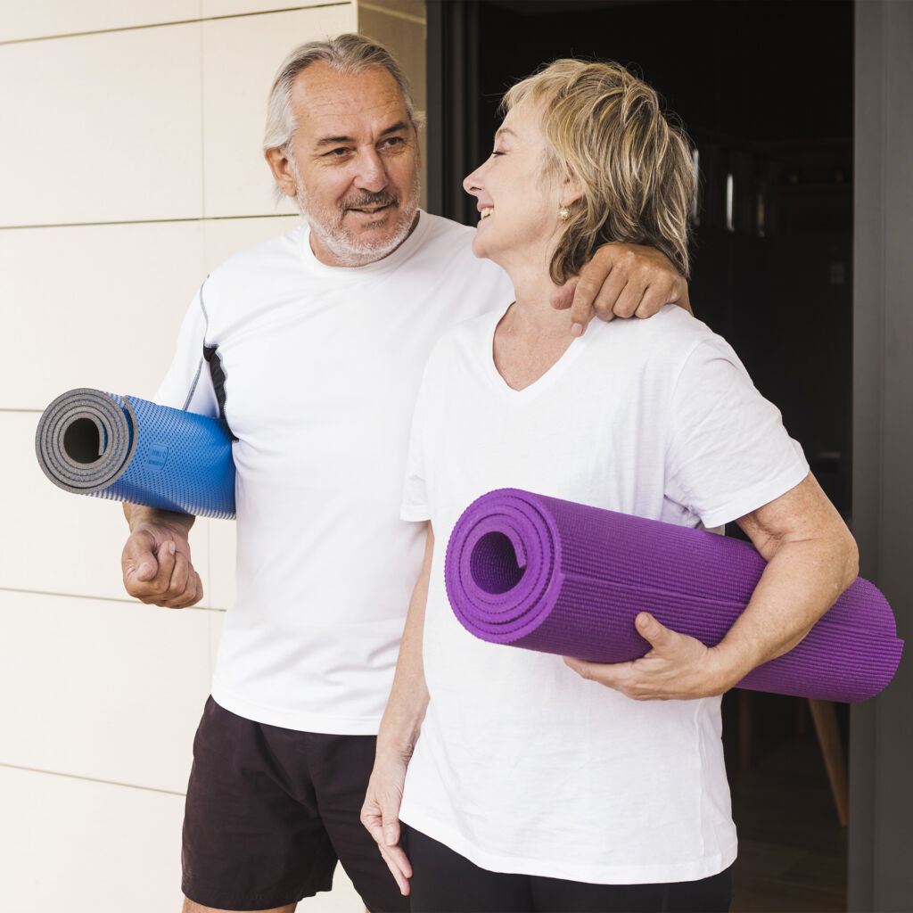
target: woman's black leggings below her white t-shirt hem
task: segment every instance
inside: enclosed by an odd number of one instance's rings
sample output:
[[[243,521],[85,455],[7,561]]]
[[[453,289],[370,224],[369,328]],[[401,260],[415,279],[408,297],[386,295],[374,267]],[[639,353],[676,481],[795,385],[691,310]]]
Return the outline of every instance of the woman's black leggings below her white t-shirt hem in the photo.
[[[726,913],[732,902],[732,866],[699,881],[589,885],[488,872],[415,828],[404,831],[412,913]]]

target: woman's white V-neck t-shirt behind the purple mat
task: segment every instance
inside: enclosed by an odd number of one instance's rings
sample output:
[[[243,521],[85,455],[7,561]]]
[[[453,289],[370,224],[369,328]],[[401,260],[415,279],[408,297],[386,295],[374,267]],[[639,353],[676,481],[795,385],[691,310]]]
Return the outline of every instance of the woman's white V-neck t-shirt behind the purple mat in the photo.
[[[714,875],[736,855],[719,698],[637,702],[561,656],[477,640],[447,603],[446,544],[493,488],[715,527],[798,485],[808,465],[729,345],[685,311],[593,321],[519,391],[492,358],[502,312],[446,334],[415,406],[402,516],[435,531],[430,702],[401,817],[492,871],[596,884]]]

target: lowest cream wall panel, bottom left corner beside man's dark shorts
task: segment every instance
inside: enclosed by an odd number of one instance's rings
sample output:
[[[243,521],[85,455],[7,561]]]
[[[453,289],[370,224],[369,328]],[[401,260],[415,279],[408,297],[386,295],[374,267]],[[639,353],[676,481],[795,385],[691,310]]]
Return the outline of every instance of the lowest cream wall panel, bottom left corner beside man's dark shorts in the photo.
[[[4,913],[181,908],[184,797],[0,767]]]

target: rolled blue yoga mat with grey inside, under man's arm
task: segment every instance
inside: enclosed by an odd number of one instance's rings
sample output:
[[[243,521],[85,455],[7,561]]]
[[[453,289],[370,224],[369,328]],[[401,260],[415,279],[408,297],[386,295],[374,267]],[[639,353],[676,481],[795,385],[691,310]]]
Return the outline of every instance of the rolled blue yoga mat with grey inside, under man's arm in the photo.
[[[231,519],[231,442],[221,419],[82,387],[47,406],[35,451],[65,491]]]

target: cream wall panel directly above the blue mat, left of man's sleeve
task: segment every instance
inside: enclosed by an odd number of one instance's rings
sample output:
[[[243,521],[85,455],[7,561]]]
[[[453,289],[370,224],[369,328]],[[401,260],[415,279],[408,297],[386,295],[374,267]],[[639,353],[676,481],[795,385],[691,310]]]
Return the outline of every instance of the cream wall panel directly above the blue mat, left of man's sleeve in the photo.
[[[200,222],[0,234],[0,408],[81,386],[151,398],[205,276],[203,238]]]

